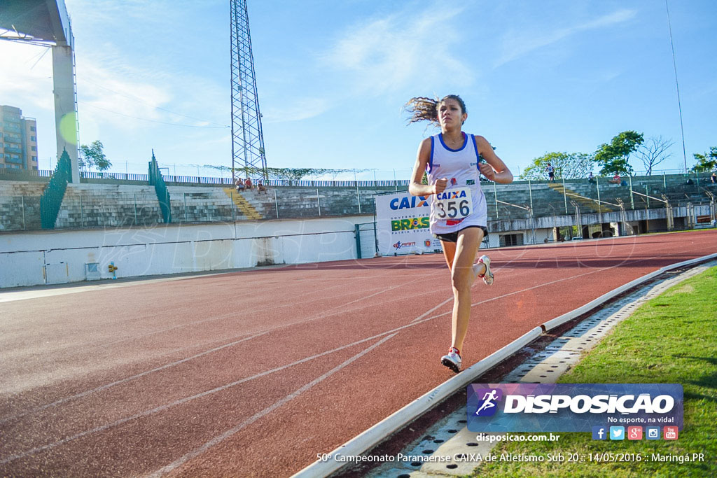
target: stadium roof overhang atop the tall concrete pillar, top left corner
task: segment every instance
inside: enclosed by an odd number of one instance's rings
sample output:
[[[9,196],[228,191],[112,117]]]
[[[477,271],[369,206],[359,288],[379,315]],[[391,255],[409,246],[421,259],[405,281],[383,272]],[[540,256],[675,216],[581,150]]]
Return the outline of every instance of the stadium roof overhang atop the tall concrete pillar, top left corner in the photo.
[[[0,0],[0,39],[72,47],[70,17],[60,0]]]

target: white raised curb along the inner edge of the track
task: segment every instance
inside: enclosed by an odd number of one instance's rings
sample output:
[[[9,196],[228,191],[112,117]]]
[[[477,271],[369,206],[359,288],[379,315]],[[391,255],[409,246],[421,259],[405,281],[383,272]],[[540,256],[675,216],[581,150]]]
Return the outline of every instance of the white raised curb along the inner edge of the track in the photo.
[[[697,259],[690,259],[684,262],[678,262],[677,264],[672,264],[670,266],[657,269],[655,272],[650,272],[650,274],[647,274],[643,277],[639,277],[631,282],[628,282],[625,285],[617,287],[617,289],[607,292],[607,294],[601,295],[597,299],[588,302],[586,305],[578,307],[575,310],[571,310],[571,312],[567,312],[566,314],[560,315],[559,317],[555,317],[554,319],[545,322],[544,324],[534,328],[530,332],[521,335],[521,337],[517,338],[516,340],[513,340],[513,342],[509,343],[508,345],[505,345],[505,347],[501,348],[500,350],[496,350],[494,353],[488,355],[488,357],[484,358],[483,360],[480,360],[478,363],[475,363],[469,368],[466,368],[461,373],[458,373],[455,377],[452,377],[444,383],[441,383],[432,391],[425,393],[423,396],[412,401],[407,406],[404,406],[403,408],[399,409],[399,411],[394,412],[394,414],[387,416],[385,419],[379,421],[379,423],[377,423],[376,425],[371,426],[370,429],[364,431],[353,439],[347,441],[345,444],[339,446],[337,449],[331,451],[331,453],[328,454],[330,458],[326,461],[313,462],[308,467],[305,467],[300,472],[294,474],[292,478],[328,477],[328,475],[332,474],[333,472],[336,472],[338,469],[341,469],[346,464],[353,463],[336,461],[335,457],[337,454],[340,454],[343,457],[357,457],[365,453],[366,451],[369,451],[370,449],[374,448],[374,446],[381,443],[381,441],[384,441],[384,439],[386,439],[386,436],[389,436],[395,431],[401,429],[403,426],[409,424],[411,421],[416,419],[425,411],[428,411],[430,408],[432,408],[432,406],[437,403],[440,403],[440,401],[444,400],[445,398],[448,398],[460,388],[463,388],[469,383],[472,383],[476,377],[483,375],[483,373],[489,371],[490,368],[493,368],[495,365],[498,365],[498,363],[505,360],[505,358],[510,357],[514,353],[518,352],[518,350],[521,350],[521,348],[523,348],[524,346],[533,342],[533,340],[538,338],[543,332],[554,329],[559,325],[568,322],[569,320],[573,320],[575,317],[579,317],[580,315],[589,312],[589,310],[592,310],[595,307],[602,305],[604,302],[607,302],[613,297],[622,294],[626,290],[630,290],[632,287],[636,287],[643,282],[647,282],[650,279],[659,276],[660,274],[670,272],[673,269],[679,269],[680,267],[698,264],[699,262],[706,262],[711,259],[717,259],[717,254],[710,254],[708,256],[698,257]]]

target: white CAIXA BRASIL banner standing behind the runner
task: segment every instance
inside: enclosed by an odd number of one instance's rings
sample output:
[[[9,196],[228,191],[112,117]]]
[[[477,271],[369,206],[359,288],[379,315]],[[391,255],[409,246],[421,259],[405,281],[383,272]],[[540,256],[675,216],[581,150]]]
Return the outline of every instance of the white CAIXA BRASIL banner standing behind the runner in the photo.
[[[440,251],[440,241],[429,231],[430,201],[407,191],[383,194],[376,201],[376,235],[379,254],[414,254]]]

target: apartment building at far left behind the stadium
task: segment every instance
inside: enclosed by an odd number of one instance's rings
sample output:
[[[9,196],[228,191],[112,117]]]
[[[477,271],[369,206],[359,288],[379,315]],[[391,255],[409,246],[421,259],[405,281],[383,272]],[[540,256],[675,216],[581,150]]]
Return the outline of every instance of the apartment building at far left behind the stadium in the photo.
[[[0,168],[37,170],[37,122],[0,105]]]

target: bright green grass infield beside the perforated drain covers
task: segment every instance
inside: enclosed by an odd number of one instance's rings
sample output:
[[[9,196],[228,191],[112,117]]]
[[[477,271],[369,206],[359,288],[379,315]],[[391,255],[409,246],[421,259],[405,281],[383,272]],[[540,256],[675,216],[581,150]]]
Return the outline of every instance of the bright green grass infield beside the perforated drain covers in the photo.
[[[559,441],[501,442],[495,454],[582,454],[586,462],[484,463],[473,477],[717,477],[717,267],[672,287],[614,328],[561,383],[681,383],[684,428],[676,441],[597,441],[588,433]],[[558,434],[558,433],[556,433]],[[704,462],[596,463],[588,454],[704,453]]]

